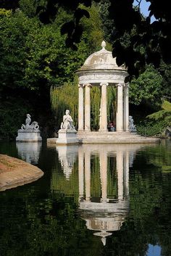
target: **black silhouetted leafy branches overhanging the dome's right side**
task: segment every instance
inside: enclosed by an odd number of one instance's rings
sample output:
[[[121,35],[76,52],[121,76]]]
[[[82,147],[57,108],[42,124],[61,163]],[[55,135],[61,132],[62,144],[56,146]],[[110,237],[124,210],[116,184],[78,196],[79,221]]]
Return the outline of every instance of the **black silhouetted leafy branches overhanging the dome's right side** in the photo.
[[[133,1],[110,0],[110,17],[114,20],[115,34],[113,37],[113,55],[117,56],[117,63],[122,65],[125,62],[128,72],[138,75],[139,71],[146,64],[152,63],[154,67],[159,67],[161,60],[166,63],[171,62],[171,16],[169,1],[165,0],[161,4],[159,0],[148,0],[149,17],[141,15],[141,0],[133,8]],[[151,16],[157,19],[151,23]],[[136,35],[131,36],[128,47],[120,44],[120,37],[125,33],[136,31]],[[141,47],[143,51],[141,51]]]

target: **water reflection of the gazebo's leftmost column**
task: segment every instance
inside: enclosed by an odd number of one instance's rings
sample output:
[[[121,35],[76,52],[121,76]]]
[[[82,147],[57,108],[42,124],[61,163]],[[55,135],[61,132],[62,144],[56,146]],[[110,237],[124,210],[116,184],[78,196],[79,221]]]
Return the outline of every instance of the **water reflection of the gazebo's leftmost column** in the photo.
[[[79,177],[79,199],[83,199],[84,194],[84,154],[83,149],[78,149],[78,177]]]

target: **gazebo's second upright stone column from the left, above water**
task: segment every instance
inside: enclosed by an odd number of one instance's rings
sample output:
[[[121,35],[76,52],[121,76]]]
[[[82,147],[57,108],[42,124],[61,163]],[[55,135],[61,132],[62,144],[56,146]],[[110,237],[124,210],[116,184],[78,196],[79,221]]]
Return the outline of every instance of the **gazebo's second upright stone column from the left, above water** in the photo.
[[[91,131],[91,84],[85,90],[85,131]]]

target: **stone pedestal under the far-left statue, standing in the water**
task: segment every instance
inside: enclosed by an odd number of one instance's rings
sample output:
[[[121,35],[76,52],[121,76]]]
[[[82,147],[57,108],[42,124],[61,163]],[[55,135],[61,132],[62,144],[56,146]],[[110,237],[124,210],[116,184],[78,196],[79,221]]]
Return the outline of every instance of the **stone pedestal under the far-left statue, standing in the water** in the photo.
[[[37,142],[42,141],[41,132],[39,130],[18,130],[18,136],[16,141],[25,141],[25,142]]]

